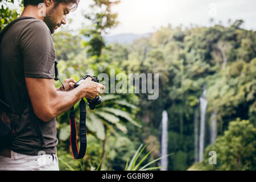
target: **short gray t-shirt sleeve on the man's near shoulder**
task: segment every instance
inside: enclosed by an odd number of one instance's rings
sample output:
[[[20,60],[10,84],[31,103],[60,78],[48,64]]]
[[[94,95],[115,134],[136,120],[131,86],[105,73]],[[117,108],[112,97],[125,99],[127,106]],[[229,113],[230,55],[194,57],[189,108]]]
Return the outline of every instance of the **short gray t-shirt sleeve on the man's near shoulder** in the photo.
[[[25,77],[54,78],[56,52],[51,32],[43,21],[35,20],[22,30],[19,48],[23,56]]]

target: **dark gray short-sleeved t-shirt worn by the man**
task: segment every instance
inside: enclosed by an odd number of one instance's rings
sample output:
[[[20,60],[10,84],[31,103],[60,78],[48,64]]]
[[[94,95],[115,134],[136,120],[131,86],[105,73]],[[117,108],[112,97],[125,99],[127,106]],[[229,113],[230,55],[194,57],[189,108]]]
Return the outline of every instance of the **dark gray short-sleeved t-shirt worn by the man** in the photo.
[[[56,52],[49,28],[39,19],[20,20],[3,36],[0,50],[2,86],[12,113],[29,103],[13,125],[16,136],[9,148],[26,155],[56,154],[56,119],[43,122],[33,115],[25,82],[25,77],[54,78]]]

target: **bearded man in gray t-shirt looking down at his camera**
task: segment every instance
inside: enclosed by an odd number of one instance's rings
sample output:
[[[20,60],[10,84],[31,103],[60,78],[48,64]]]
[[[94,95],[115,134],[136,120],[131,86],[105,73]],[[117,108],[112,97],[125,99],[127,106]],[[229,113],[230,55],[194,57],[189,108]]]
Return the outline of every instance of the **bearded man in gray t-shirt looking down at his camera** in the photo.
[[[66,23],[65,16],[76,9],[79,0],[23,2],[21,16],[32,18],[11,26],[1,43],[1,86],[11,113],[17,113],[16,109],[23,105],[24,110],[11,123],[16,135],[0,151],[0,170],[59,170],[55,117],[84,97],[93,100],[105,87],[92,78],[76,89],[73,89],[76,82],[73,78],[64,81],[65,90],[54,85],[56,53],[51,34]],[[44,6],[38,6],[39,3]],[[2,113],[1,119],[10,121],[10,115]]]

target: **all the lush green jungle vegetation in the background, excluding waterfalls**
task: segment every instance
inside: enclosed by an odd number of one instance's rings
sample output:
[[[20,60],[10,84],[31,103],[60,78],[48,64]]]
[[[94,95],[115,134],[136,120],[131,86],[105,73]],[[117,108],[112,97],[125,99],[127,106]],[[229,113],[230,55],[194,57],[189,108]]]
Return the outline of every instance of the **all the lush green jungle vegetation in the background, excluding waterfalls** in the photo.
[[[242,29],[243,20],[236,20],[229,27],[216,24],[173,28],[169,24],[133,44],[106,46],[103,36],[118,24],[111,7],[119,2],[94,0],[84,15],[90,26],[79,34],[60,31],[53,35],[59,77],[79,80],[88,73],[110,75],[113,68],[115,75],[159,73],[159,98],[147,100],[148,94],[103,94],[105,101],[96,110],[88,110],[88,147],[82,160],[73,160],[69,112],[61,114],[57,117],[60,169],[146,169],[148,166],[141,166],[154,163],[159,157],[158,129],[164,109],[169,119],[168,152],[174,153],[168,158],[168,169],[189,168],[194,162],[195,109],[206,84],[206,146],[213,111],[217,112],[218,138],[206,148],[205,160],[192,168],[255,170],[256,32]],[[14,1],[0,0],[1,27],[18,17],[22,1],[16,4],[18,10],[11,8],[13,4]],[[60,84],[56,82],[57,86]],[[75,112],[79,117],[77,104]],[[137,150],[142,142],[148,145]],[[143,156],[144,150],[147,152]],[[208,163],[210,150],[217,152],[216,166]]]

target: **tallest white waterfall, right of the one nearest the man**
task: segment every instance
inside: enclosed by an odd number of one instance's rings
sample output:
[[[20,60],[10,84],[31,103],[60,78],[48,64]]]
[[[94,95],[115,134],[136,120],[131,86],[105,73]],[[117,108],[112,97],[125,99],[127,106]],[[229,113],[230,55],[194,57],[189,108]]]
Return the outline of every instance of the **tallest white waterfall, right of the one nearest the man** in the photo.
[[[207,110],[206,85],[203,85],[203,93],[199,98],[200,101],[200,144],[199,144],[199,161],[203,160],[204,155],[204,133],[205,133],[205,114]]]

